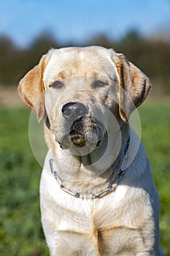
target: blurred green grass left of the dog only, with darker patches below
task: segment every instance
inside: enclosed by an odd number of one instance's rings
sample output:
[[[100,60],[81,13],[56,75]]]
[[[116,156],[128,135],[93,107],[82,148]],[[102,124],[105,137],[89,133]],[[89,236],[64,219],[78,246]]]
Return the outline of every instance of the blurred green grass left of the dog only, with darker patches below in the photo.
[[[39,210],[41,167],[28,141],[30,111],[0,110],[0,255],[49,255]]]

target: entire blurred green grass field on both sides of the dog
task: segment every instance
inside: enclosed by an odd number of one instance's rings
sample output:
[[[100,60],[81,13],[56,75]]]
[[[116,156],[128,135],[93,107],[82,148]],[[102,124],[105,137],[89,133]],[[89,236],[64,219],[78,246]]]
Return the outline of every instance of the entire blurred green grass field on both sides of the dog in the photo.
[[[170,103],[147,101],[139,108],[142,142],[161,197],[161,245],[170,255]],[[28,140],[26,108],[0,108],[0,255],[49,255],[39,211],[42,167]]]

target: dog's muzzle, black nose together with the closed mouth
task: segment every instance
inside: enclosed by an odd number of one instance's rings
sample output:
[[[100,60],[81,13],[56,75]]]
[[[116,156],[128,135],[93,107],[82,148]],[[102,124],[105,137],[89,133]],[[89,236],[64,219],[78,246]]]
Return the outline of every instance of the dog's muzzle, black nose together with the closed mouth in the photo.
[[[80,102],[69,102],[61,110],[70,124],[69,138],[75,146],[99,146],[104,138],[105,127],[96,117],[88,116],[88,107]]]

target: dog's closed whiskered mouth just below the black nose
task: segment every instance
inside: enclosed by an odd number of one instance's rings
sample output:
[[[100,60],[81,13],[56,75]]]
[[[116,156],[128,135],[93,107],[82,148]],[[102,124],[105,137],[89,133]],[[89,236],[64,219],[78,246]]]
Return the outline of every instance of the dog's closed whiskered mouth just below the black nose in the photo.
[[[101,141],[104,138],[106,129],[104,124],[101,123],[97,118],[78,118],[73,122],[69,137],[74,146],[82,148],[83,146],[100,146]]]

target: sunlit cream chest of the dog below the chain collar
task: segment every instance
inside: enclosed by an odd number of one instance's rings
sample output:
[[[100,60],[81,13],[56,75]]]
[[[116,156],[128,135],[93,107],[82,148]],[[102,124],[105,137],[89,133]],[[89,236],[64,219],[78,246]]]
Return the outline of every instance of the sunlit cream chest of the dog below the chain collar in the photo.
[[[63,249],[62,244],[72,242],[72,251],[77,252],[78,248],[89,244],[88,255],[98,255],[98,250],[102,252],[102,248],[104,252],[101,255],[109,255],[114,246],[115,252],[117,250],[115,255],[119,255],[120,250],[124,253],[129,244],[134,244],[135,248],[131,248],[133,252],[140,246],[145,225],[149,227],[147,236],[150,236],[152,218],[148,219],[148,216],[152,215],[152,209],[149,203],[144,203],[147,195],[140,189],[121,185],[103,198],[81,199],[63,192],[55,178],[44,173],[40,194],[47,243],[53,241],[56,246],[60,241],[57,248]],[[134,200],[140,201],[140,207],[134,204]],[[145,230],[145,236],[146,233]],[[144,244],[141,251],[143,249]]]

